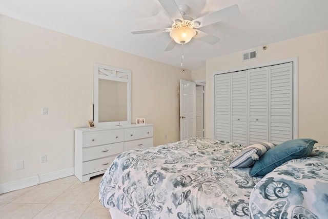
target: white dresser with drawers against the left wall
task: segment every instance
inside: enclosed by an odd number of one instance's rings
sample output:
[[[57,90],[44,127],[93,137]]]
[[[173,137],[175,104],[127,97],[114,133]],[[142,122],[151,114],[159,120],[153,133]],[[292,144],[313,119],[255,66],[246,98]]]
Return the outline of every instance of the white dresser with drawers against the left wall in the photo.
[[[104,173],[117,154],[153,146],[152,124],[74,130],[74,174],[82,183]]]

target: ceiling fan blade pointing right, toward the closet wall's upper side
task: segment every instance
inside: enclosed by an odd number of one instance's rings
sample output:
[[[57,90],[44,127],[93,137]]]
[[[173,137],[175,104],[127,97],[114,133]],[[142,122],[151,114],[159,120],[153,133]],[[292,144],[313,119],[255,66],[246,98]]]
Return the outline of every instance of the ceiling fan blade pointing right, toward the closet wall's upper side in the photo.
[[[197,19],[194,19],[192,23],[199,23],[197,28],[211,25],[214,23],[218,23],[220,21],[224,21],[226,19],[239,16],[239,8],[238,5],[232,5],[227,8],[223,8],[219,11],[213,12],[211,14],[204,15],[202,17],[198,17]],[[196,26],[195,26],[196,27]]]

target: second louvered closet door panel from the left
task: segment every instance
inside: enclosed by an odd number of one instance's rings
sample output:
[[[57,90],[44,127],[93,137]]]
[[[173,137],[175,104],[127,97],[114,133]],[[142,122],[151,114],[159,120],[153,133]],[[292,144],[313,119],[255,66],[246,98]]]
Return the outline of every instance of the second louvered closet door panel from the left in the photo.
[[[248,143],[248,73],[247,70],[231,75],[231,141]]]

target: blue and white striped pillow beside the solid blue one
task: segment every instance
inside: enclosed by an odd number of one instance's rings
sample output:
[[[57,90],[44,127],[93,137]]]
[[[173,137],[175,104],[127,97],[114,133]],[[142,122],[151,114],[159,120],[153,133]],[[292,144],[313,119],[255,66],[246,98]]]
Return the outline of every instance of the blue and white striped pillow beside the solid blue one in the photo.
[[[248,146],[240,151],[237,156],[232,160],[229,167],[231,168],[244,168],[251,167],[255,164],[260,156],[265,152],[274,148],[276,145],[269,142],[262,142]]]

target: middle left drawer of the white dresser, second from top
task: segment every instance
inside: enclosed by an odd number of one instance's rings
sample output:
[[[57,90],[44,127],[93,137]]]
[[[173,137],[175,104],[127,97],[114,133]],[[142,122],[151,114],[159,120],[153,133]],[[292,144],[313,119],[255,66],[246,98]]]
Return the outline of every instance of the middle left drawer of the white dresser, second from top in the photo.
[[[124,143],[118,142],[109,145],[83,148],[82,161],[91,161],[101,157],[115,155],[124,151]]]

